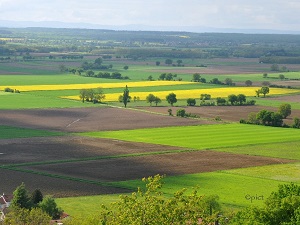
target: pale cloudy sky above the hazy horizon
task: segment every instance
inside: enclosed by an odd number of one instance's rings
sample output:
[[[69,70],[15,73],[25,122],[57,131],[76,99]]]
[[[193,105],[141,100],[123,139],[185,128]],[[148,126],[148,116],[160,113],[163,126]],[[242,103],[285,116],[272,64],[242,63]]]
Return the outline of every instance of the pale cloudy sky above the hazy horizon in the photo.
[[[108,26],[299,31],[299,12],[299,0],[0,0],[0,21]]]

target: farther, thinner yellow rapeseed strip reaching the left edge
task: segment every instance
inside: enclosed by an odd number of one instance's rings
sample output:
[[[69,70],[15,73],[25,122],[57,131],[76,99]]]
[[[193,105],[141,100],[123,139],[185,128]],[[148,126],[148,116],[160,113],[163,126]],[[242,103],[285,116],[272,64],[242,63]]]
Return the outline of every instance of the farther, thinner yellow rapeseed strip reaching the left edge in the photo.
[[[122,88],[128,87],[151,87],[151,86],[170,86],[192,84],[186,81],[138,81],[138,82],[119,82],[119,83],[92,83],[92,84],[62,84],[62,85],[24,85],[24,86],[9,86],[11,89],[24,91],[57,91],[57,90],[80,90],[89,88]],[[8,86],[0,86],[0,90],[4,90]]]

